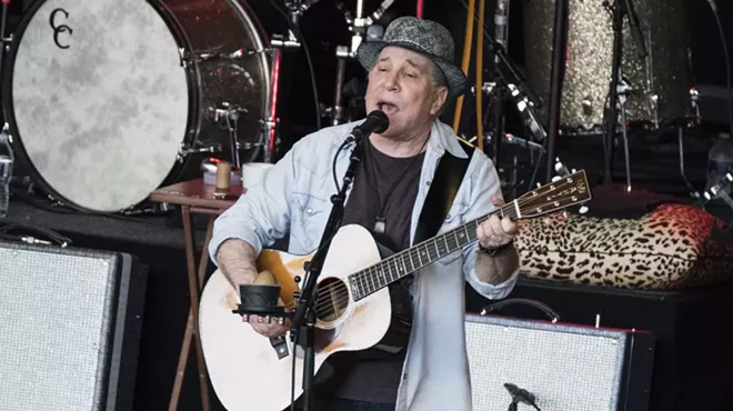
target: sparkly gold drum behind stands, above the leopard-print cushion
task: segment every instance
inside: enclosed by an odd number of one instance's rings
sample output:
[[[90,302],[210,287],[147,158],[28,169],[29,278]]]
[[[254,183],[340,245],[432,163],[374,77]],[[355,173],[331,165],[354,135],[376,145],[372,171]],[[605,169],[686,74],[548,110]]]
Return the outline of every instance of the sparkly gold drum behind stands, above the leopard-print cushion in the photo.
[[[622,76],[632,89],[626,120],[632,126],[657,128],[691,114],[686,0],[633,1],[649,56],[639,57],[624,18]],[[524,13],[528,80],[543,99],[543,116],[550,101],[554,7],[554,0],[531,0]],[[569,7],[560,123],[563,133],[603,133],[613,56],[611,12],[603,1],[570,0]]]

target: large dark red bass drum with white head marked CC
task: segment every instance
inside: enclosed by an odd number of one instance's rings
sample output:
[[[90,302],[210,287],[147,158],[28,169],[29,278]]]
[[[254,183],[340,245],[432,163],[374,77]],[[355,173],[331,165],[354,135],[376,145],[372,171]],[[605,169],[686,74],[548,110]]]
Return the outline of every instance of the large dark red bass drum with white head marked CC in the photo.
[[[235,0],[39,0],[4,68],[13,151],[69,207],[135,208],[179,181],[187,163],[199,167],[187,152],[231,147],[214,121],[223,102],[247,110],[240,143],[260,140],[270,93],[265,44]],[[238,50],[241,57],[200,58]]]

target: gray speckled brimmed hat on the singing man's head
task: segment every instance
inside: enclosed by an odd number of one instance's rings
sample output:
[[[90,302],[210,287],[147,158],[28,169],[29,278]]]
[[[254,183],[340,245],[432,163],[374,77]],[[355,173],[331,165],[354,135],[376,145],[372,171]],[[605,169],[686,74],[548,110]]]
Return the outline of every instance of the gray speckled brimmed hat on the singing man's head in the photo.
[[[465,92],[469,80],[453,62],[455,46],[445,27],[412,16],[398,18],[386,28],[382,40],[362,42],[357,49],[357,59],[369,71],[374,67],[379,53],[388,46],[413,50],[430,58],[445,74],[449,100]]]

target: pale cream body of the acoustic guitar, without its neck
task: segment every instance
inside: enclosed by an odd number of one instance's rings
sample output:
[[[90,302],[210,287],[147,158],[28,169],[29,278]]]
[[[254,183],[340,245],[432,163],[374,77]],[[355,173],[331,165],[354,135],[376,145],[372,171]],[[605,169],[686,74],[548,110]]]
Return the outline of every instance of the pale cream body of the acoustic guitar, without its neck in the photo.
[[[294,278],[304,279],[303,263],[311,258],[272,250],[262,251],[258,258],[259,271],[274,274],[289,308],[293,305]],[[389,289],[354,302],[347,280],[380,260],[376,242],[362,227],[343,227],[333,238],[318,281],[315,372],[330,355],[365,350],[385,335],[392,315]],[[294,351],[290,333],[280,340],[287,347],[287,355],[281,358],[273,341],[232,312],[239,302],[239,290],[217,270],[203,289],[199,308],[200,338],[213,389],[229,411],[283,410],[291,400]],[[303,352],[298,347],[295,399],[302,394],[302,377]]]

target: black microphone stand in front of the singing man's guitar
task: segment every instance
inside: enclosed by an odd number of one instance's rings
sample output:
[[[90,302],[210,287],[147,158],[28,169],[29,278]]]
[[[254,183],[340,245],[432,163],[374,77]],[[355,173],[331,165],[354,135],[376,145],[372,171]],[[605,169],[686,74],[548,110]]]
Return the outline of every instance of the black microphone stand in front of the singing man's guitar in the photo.
[[[341,220],[343,219],[343,204],[347,199],[347,192],[349,191],[349,187],[353,182],[354,170],[357,168],[357,164],[361,161],[361,156],[362,156],[361,141],[368,136],[369,136],[368,133],[364,133],[362,136],[358,134],[355,139],[357,146],[354,147],[351,153],[351,162],[349,163],[347,173],[343,177],[343,184],[340,191],[333,197],[331,197],[331,202],[333,203],[333,208],[331,209],[331,214],[329,215],[329,220],[325,224],[325,229],[323,230],[323,235],[321,238],[319,248],[315,251],[311,261],[305,262],[304,264],[304,270],[305,272],[308,272],[308,275],[305,277],[305,283],[300,292],[298,307],[295,309],[295,313],[292,319],[291,338],[293,339],[293,342],[295,342],[297,341],[295,335],[299,332],[298,330],[304,332],[301,342],[303,342],[305,345],[304,358],[303,358],[303,398],[304,398],[305,411],[314,410],[312,388],[313,388],[313,377],[315,373],[314,370],[314,365],[315,365],[314,342],[315,342],[315,320],[317,320],[315,308],[318,307],[315,304],[318,300],[318,291],[315,284],[323,268],[325,255],[329,252],[331,240],[333,239],[333,235],[335,235],[337,231],[339,231],[339,228],[341,225]]]

